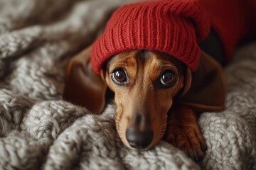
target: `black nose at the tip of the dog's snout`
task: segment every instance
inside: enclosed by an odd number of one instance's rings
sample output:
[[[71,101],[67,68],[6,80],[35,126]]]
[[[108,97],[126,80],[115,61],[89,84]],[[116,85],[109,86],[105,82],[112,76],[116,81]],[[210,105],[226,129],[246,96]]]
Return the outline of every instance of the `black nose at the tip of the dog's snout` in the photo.
[[[131,147],[136,149],[145,149],[153,140],[154,132],[152,130],[135,130],[127,128],[125,135]]]

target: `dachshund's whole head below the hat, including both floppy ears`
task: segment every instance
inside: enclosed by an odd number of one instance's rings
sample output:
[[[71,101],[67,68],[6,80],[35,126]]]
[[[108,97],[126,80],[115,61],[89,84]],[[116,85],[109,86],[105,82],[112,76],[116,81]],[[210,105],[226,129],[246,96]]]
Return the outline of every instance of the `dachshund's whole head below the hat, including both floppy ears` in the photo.
[[[171,106],[183,103],[196,111],[223,108],[223,70],[202,52],[198,70],[164,52],[134,50],[114,55],[101,75],[90,67],[90,47],[70,60],[64,98],[92,113],[105,108],[107,89],[114,92],[115,122],[124,145],[154,147],[164,135]]]

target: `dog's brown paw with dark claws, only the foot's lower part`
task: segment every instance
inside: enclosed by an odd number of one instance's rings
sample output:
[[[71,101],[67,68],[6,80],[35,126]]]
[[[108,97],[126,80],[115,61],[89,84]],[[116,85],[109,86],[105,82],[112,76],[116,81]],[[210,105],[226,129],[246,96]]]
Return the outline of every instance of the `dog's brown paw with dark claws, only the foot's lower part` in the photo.
[[[178,123],[174,123],[169,125],[169,128],[166,129],[164,140],[186,152],[196,162],[203,159],[204,152],[207,149],[206,141],[197,124],[182,125],[181,123],[178,125]]]

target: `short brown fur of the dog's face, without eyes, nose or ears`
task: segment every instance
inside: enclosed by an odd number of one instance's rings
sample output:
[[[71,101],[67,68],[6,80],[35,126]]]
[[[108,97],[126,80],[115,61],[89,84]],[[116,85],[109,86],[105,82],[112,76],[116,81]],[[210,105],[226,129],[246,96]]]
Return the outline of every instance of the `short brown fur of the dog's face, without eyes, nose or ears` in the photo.
[[[183,88],[183,77],[178,77],[177,83],[169,89],[159,89],[156,82],[164,69],[171,69],[178,75],[176,66],[169,62],[168,56],[159,52],[131,51],[122,52],[107,64],[104,79],[107,86],[114,92],[114,101],[117,105],[116,126],[122,142],[129,144],[125,137],[127,127],[138,130],[151,128],[154,130],[154,140],[146,149],[154,147],[166,129],[167,113],[173,103],[173,98]],[[129,84],[119,86],[108,76],[115,68],[126,69]],[[158,104],[155,104],[158,103]],[[148,117],[148,123],[136,125],[132,121],[136,114]]]

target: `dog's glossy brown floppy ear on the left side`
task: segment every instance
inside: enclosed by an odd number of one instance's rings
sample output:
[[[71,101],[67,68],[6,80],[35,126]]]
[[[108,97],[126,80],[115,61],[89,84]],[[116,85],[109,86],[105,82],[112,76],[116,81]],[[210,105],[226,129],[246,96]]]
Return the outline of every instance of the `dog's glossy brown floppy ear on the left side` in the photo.
[[[101,113],[105,108],[107,85],[92,70],[90,54],[91,47],[87,47],[68,62],[63,98],[85,106],[92,113]]]

